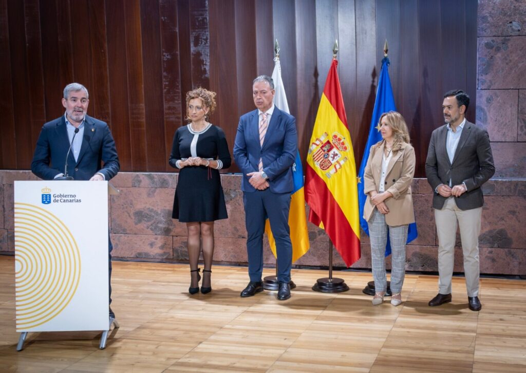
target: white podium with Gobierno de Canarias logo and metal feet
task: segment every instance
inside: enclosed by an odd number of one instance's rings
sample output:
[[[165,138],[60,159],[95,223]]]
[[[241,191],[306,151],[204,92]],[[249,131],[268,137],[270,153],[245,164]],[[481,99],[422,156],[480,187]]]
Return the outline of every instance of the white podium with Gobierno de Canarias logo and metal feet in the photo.
[[[15,181],[17,350],[30,331],[103,330],[108,320],[108,182]]]

